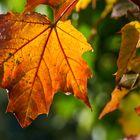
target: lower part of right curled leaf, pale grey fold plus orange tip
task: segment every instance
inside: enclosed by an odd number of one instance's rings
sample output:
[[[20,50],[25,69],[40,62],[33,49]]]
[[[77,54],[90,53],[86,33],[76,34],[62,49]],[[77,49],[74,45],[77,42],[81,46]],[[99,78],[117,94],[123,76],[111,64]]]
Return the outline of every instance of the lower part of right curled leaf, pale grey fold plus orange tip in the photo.
[[[139,65],[140,66],[140,65]],[[109,112],[118,109],[121,100],[129,93],[134,87],[140,84],[139,74],[124,74],[119,82],[119,85],[113,90],[111,100],[104,107],[99,119]],[[136,112],[139,109],[136,109]]]

